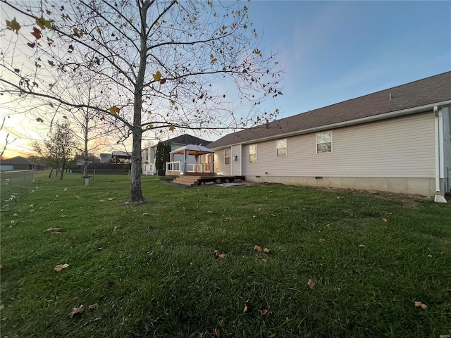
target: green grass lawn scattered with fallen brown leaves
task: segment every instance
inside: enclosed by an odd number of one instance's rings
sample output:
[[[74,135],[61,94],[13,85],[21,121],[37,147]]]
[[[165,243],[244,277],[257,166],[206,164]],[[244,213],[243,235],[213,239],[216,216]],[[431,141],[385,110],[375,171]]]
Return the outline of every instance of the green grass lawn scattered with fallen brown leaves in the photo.
[[[451,334],[450,204],[142,177],[130,205],[126,175],[35,180],[1,213],[1,337]]]

